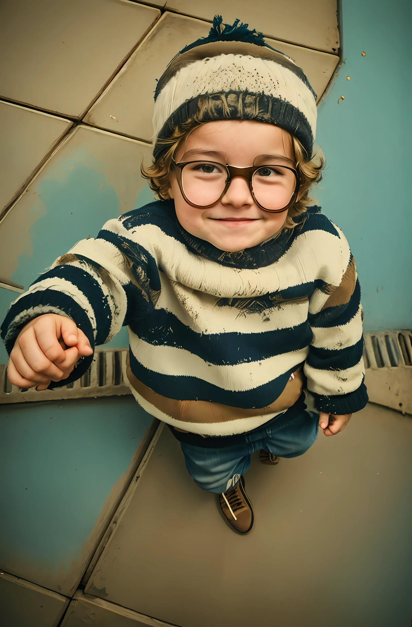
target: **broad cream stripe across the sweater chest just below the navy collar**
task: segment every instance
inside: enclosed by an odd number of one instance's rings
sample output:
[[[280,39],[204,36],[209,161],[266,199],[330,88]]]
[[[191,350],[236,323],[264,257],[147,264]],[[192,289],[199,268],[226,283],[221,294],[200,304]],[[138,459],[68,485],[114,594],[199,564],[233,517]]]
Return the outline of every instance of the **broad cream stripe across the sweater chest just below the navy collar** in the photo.
[[[315,278],[338,286],[350,258],[346,240],[340,242],[332,233],[317,230],[298,235],[279,261],[256,270],[240,270],[195,255],[155,224],[127,231],[117,220],[112,223],[116,232],[151,253],[172,281],[223,298],[257,297]]]

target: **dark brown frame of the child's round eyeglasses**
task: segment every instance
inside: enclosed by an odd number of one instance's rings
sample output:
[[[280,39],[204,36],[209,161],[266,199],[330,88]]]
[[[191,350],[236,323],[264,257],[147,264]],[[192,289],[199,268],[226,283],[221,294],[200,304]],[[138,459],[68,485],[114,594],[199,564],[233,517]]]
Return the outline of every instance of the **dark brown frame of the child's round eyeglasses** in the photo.
[[[249,183],[249,189],[251,191],[252,194],[252,198],[254,199],[255,203],[257,204],[257,206],[260,209],[263,209],[263,211],[268,211],[269,213],[282,213],[283,211],[286,211],[287,209],[289,209],[293,203],[296,202],[296,199],[298,198],[298,193],[299,193],[299,189],[300,189],[300,178],[299,178],[299,173],[298,173],[298,169],[295,169],[293,167],[289,167],[289,166],[279,166],[276,165],[274,166],[274,164],[268,164],[268,165],[263,165],[263,166],[248,166],[248,167],[237,167],[237,166],[229,166],[229,164],[226,164],[225,167],[227,170],[227,182],[225,184],[225,189],[222,191],[222,194],[220,194],[219,198],[217,199],[217,201],[215,201],[212,204],[195,204],[192,203],[186,196],[184,190],[183,190],[183,184],[182,184],[182,171],[183,168],[185,166],[190,165],[191,163],[207,163],[207,164],[213,164],[215,166],[220,166],[222,167],[223,164],[219,163],[218,161],[207,161],[207,160],[196,160],[196,161],[185,161],[182,163],[176,163],[175,159],[172,158],[171,160],[171,166],[173,168],[176,167],[178,169],[179,172],[179,176],[176,176],[176,181],[178,183],[180,192],[182,192],[182,196],[185,199],[185,201],[190,204],[191,207],[194,207],[195,209],[210,209],[210,207],[214,207],[215,204],[219,203],[220,200],[222,200],[222,198],[224,197],[225,193],[227,192],[227,190],[229,189],[230,183],[232,182],[233,177],[235,176],[241,176],[242,178],[246,179],[247,182]],[[264,207],[263,205],[261,205],[259,203],[259,201],[257,201],[254,192],[253,192],[253,187],[252,187],[252,178],[254,173],[257,170],[262,169],[263,167],[283,167],[286,170],[290,170],[291,172],[293,172],[293,174],[295,174],[295,179],[296,179],[296,185],[295,185],[295,191],[293,192],[291,199],[289,201],[289,203],[283,207],[282,209],[267,209],[266,207]],[[176,174],[176,172],[175,172]]]

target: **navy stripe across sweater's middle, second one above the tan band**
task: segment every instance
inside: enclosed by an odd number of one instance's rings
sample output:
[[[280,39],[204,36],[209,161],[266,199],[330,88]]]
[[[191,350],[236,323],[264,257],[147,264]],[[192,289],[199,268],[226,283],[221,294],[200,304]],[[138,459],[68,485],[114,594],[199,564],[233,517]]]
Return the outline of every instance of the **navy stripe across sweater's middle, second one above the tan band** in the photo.
[[[290,329],[261,333],[200,334],[164,309],[154,310],[139,322],[131,321],[129,327],[148,344],[187,350],[217,366],[260,361],[303,349],[312,342],[312,329],[307,321]]]

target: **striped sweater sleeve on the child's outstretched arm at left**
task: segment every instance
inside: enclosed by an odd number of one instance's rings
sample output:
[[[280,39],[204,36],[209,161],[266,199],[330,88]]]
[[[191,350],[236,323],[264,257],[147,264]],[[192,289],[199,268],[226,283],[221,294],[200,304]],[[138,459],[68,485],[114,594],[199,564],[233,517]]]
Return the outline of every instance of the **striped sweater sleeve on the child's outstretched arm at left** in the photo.
[[[95,240],[79,241],[11,303],[1,326],[9,354],[22,327],[39,315],[71,318],[94,349],[153,311],[160,295],[155,258],[128,237],[122,219],[107,222]],[[50,389],[79,379],[92,359],[82,357],[68,379],[52,381]]]

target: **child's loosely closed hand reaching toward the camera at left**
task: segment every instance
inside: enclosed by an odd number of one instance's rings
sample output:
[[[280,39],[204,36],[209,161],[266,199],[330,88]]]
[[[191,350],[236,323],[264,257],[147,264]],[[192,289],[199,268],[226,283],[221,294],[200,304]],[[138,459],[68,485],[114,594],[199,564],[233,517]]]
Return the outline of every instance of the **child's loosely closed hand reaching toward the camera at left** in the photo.
[[[18,387],[45,390],[50,381],[67,379],[79,357],[93,352],[84,332],[73,320],[43,314],[19,333],[7,367],[9,381]]]

